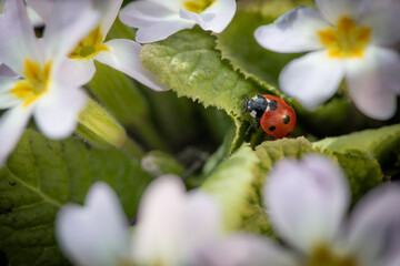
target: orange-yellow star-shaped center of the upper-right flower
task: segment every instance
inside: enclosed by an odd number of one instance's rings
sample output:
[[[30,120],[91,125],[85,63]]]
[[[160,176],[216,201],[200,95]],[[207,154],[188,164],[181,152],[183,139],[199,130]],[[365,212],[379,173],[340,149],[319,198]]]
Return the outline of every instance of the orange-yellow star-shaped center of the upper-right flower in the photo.
[[[357,25],[356,22],[342,17],[334,28],[318,31],[318,37],[328,49],[331,58],[361,58],[370,42],[371,29]]]

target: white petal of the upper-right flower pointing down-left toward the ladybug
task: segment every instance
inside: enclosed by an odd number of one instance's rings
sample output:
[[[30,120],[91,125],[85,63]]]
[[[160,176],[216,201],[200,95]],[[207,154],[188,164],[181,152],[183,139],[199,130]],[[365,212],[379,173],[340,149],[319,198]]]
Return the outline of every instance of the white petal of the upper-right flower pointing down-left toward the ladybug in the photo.
[[[308,109],[334,95],[344,75],[344,62],[326,51],[311,52],[289,62],[279,75],[281,90]]]

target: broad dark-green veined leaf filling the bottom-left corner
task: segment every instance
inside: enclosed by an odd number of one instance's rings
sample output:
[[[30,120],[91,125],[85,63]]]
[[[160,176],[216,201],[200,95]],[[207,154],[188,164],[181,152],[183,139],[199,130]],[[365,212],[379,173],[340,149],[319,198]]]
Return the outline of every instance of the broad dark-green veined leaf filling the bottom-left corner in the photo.
[[[77,137],[54,142],[28,130],[0,170],[0,249],[11,265],[64,265],[54,239],[54,217],[67,202],[82,203],[96,181],[110,184],[128,217],[152,177],[114,149]]]

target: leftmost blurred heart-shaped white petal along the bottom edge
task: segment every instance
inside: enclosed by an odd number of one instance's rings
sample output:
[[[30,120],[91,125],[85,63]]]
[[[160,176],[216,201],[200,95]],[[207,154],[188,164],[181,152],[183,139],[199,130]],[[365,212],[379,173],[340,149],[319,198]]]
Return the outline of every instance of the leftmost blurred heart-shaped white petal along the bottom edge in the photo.
[[[82,266],[118,265],[129,247],[128,221],[116,193],[93,184],[84,206],[67,204],[56,219],[57,239],[64,254]]]

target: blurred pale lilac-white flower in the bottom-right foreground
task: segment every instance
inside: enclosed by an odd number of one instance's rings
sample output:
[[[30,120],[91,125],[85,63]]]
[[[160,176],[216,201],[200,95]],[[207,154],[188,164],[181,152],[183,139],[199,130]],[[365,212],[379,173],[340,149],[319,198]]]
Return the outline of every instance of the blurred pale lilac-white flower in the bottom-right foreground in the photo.
[[[400,265],[400,187],[396,184],[370,192],[344,219],[350,193],[342,171],[326,157],[308,155],[301,162],[277,163],[263,197],[273,228],[292,250],[260,236],[234,236],[204,248],[199,257],[207,263],[200,265]],[[224,264],[229,248],[237,255]],[[247,264],[249,257],[252,264]]]

